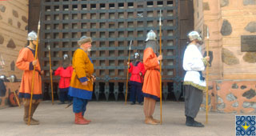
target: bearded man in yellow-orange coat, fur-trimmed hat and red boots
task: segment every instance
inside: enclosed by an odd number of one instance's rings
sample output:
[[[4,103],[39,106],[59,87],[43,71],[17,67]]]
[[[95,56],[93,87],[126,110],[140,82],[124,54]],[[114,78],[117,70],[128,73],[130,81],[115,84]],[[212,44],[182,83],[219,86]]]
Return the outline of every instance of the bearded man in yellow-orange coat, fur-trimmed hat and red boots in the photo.
[[[94,64],[90,58],[91,38],[82,36],[78,40],[80,48],[73,56],[73,74],[70,82],[69,95],[73,97],[74,123],[86,125],[90,120],[83,118],[88,100],[92,98],[94,87]]]

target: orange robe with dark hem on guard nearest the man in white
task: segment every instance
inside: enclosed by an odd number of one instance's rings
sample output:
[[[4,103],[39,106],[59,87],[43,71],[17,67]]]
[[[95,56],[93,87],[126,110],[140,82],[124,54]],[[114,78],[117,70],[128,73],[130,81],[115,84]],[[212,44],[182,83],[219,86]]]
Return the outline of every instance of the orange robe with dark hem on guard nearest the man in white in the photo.
[[[152,48],[146,48],[143,54],[143,64],[146,70],[142,92],[146,98],[160,98],[160,66],[158,57]]]

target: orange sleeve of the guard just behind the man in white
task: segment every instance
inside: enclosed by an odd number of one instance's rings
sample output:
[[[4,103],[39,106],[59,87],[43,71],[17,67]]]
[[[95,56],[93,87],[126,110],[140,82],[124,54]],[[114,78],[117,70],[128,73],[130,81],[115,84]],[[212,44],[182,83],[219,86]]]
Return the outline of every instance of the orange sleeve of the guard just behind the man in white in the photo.
[[[154,51],[152,48],[147,48],[144,51],[143,64],[144,64],[146,70],[159,66],[158,58],[154,56]]]

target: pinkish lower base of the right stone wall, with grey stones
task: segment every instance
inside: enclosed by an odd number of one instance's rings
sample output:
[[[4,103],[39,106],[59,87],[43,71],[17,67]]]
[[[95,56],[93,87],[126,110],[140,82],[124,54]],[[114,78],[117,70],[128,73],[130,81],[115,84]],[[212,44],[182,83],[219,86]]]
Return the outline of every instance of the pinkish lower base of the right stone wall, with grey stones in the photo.
[[[220,113],[255,113],[255,81],[216,81],[210,83],[209,102],[211,111]],[[204,98],[202,107],[205,107]]]

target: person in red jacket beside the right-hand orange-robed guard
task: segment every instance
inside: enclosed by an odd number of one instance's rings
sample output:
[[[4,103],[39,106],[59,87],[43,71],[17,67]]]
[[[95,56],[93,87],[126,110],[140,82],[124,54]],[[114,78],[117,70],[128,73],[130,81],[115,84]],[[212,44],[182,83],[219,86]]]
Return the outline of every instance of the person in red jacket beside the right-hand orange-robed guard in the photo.
[[[129,66],[129,73],[130,76],[130,104],[134,105],[136,102],[136,94],[137,100],[140,105],[143,102],[143,95],[142,95],[142,82],[143,82],[143,75],[145,74],[144,65],[139,60],[139,54],[134,54],[134,61],[127,63]]]

